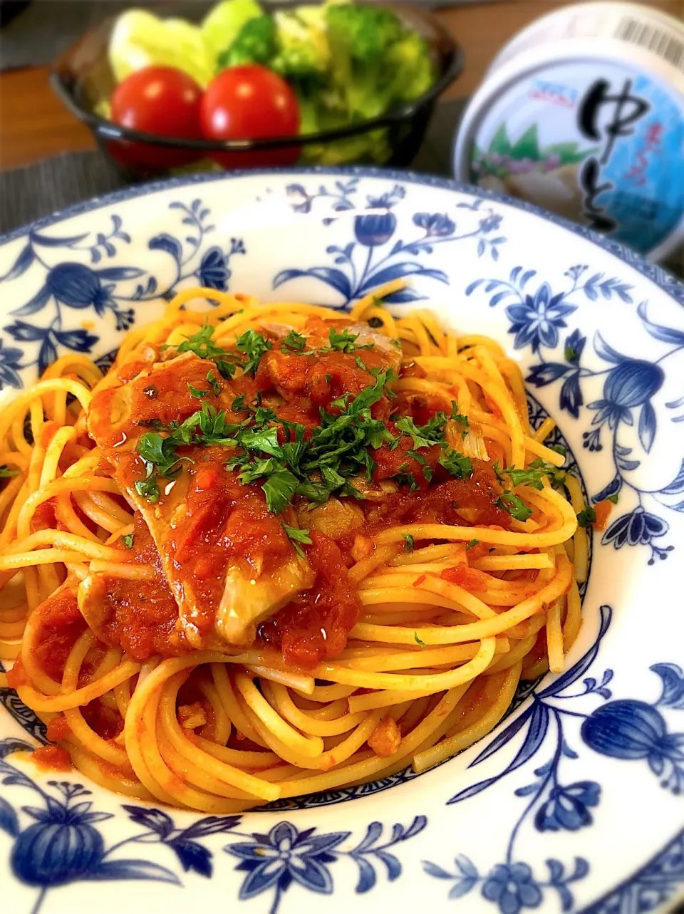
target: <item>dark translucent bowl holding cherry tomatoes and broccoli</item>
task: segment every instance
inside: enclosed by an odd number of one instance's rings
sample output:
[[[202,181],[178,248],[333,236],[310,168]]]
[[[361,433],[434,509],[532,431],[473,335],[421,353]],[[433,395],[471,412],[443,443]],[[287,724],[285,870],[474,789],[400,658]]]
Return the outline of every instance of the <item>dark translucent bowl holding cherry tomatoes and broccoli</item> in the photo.
[[[267,5],[267,8],[273,6]],[[397,13],[406,26],[426,39],[433,55],[437,79],[430,90],[410,104],[369,121],[322,133],[218,143],[156,136],[107,121],[96,113],[96,107],[109,99],[115,85],[107,54],[113,19],[86,32],[57,60],[50,73],[50,84],[69,111],[88,124],[97,143],[117,165],[123,165],[130,177],[168,173],[168,168],[132,164],[132,149],[152,147],[175,150],[181,158],[184,154],[194,158],[195,161],[185,166],[184,171],[220,170],[219,165],[208,158],[212,153],[230,153],[230,166],[235,168],[294,165],[296,162],[300,165],[409,165],[422,143],[437,97],[459,76],[464,55],[462,48],[434,16],[415,6],[388,5],[388,8]],[[369,133],[374,133],[373,150],[369,152],[367,148],[359,154],[351,138],[368,136]],[[137,146],[132,146],[132,143]],[[361,148],[366,145],[361,143]],[[153,157],[154,154],[150,156],[151,159]]]

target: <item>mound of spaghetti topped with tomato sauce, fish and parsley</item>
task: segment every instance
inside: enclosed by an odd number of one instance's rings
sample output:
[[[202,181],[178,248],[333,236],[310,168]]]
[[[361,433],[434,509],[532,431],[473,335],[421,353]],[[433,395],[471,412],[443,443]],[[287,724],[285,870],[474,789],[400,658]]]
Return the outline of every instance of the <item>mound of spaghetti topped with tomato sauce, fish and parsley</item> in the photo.
[[[0,415],[0,657],[37,760],[231,813],[424,771],[561,670],[587,536],[553,422],[395,288],[181,292],[106,375],[62,356]]]

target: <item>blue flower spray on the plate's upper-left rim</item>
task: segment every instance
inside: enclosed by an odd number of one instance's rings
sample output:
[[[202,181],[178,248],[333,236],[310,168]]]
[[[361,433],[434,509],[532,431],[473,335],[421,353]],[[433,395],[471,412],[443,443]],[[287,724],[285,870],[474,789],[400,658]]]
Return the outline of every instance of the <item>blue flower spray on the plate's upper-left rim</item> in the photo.
[[[173,202],[169,209],[180,214],[185,238],[160,232],[147,242],[148,250],[163,251],[172,259],[171,278],[164,284],[141,267],[95,266],[115,257],[120,246],[131,244],[131,236],[122,228],[123,219],[116,214],[111,217],[112,227],[107,234],[52,236],[33,228],[28,232],[25,247],[9,271],[0,276],[0,283],[12,282],[33,267],[37,268],[34,273],[42,272],[42,284],[26,303],[10,312],[16,320],[3,327],[14,341],[29,345],[19,349],[0,338],[0,388],[21,387],[21,369],[35,365],[38,374],[42,373],[58,357],[60,348],[92,352],[99,335],[83,326],[74,326],[69,310],[92,310],[98,317],[111,314],[115,329],[123,332],[134,324],[135,305],[169,299],[182,282],[199,282],[221,292],[228,289],[230,259],[246,252],[243,242],[233,238],[228,250],[215,245],[202,251],[204,239],[215,230],[208,221],[209,209],[203,207],[200,199],[193,200],[189,206]],[[63,256],[65,250],[70,257],[80,256],[89,263],[79,260],[51,263],[50,251]],[[34,316],[37,314],[41,315],[40,323]],[[29,320],[21,319],[26,317]],[[28,356],[29,352],[33,355]]]

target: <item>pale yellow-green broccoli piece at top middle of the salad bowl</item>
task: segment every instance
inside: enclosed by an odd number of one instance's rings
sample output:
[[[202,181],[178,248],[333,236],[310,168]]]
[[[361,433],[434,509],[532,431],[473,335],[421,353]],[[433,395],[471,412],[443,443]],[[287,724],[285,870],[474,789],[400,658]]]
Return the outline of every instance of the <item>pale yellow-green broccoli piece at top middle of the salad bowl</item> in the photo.
[[[309,14],[311,9],[315,14]],[[306,90],[325,83],[330,68],[326,19],[319,10],[320,7],[300,6],[273,16],[278,51],[271,67],[284,79],[305,84]]]

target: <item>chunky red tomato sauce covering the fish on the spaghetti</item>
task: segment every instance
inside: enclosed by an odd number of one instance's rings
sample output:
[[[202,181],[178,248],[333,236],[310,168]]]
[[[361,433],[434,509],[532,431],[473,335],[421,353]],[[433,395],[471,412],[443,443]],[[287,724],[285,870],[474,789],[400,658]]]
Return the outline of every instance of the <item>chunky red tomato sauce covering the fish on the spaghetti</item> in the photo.
[[[271,330],[264,328],[272,346],[262,356],[255,377],[243,374],[228,381],[219,376],[213,362],[192,354],[153,368],[148,363],[124,367],[121,379],[134,379],[124,388],[107,388],[97,394],[89,415],[89,430],[105,449],[106,461],[114,467],[117,479],[134,494],[135,483],[146,475],[144,462],[135,450],[141,434],[172,421],[182,422],[204,404],[224,409],[227,421],[240,422],[249,410],[233,410],[232,404],[235,397],[244,395],[246,404],[273,409],[283,420],[304,426],[305,437],[309,437],[310,429],[321,423],[322,409],[338,414],[344,406],[334,406],[337,399],[345,394],[355,397],[364,388],[375,386],[379,371],[399,371],[400,353],[392,347],[358,347],[351,353],[329,348],[331,323],[319,318],[307,321],[304,333],[308,347],[323,349],[315,354],[283,346],[283,334],[275,325]],[[340,330],[348,326],[344,321],[338,323]],[[209,371],[217,378],[218,394],[207,380]],[[402,375],[424,377],[424,371],[410,365],[402,368]],[[188,385],[208,391],[207,396],[193,397]],[[382,396],[372,405],[371,415],[398,435],[389,419],[392,412],[411,415],[420,425],[441,409],[448,411],[448,404],[438,396]],[[283,426],[279,427],[278,440],[281,444],[287,440]],[[380,484],[390,481],[385,487],[393,485],[397,491],[388,491],[380,499],[353,502],[365,518],[364,535],[372,537],[388,526],[415,523],[510,526],[510,515],[495,504],[501,488],[488,464],[473,461],[472,476],[460,480],[439,464],[439,445],[422,448],[419,459],[410,454],[413,450],[411,437],[403,436],[394,450],[383,445],[371,452],[376,466],[370,485],[379,491]],[[185,619],[191,618],[202,643],[208,643],[217,608],[225,596],[229,569],[241,569],[249,581],[275,573],[284,562],[297,561],[293,543],[283,528],[283,523],[296,524],[294,510],[287,508],[283,515],[273,515],[260,484],[241,484],[240,471],[226,469],[231,456],[227,448],[191,445],[179,447],[177,453],[187,458],[182,472],[176,480],[160,477],[158,501],[141,499],[142,514],[136,513],[134,547],[128,560],[151,566],[154,579],[101,575],[99,580],[101,624],[96,631],[103,641],[120,644],[138,660],[152,654],[186,652],[189,643],[183,628],[184,614]],[[404,484],[409,475],[419,491],[411,492]],[[301,526],[306,526],[305,518]],[[305,590],[261,622],[257,633],[258,645],[278,651],[286,663],[304,669],[337,656],[361,613],[356,587],[347,576],[358,527],[336,536],[310,526],[312,543],[302,548],[313,583],[309,586],[309,577]],[[188,593],[192,595],[191,611],[186,606],[179,618],[178,606],[187,600]],[[107,732],[114,732],[116,726],[115,720],[97,724]]]

